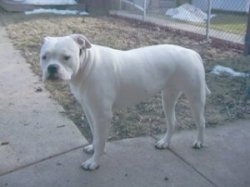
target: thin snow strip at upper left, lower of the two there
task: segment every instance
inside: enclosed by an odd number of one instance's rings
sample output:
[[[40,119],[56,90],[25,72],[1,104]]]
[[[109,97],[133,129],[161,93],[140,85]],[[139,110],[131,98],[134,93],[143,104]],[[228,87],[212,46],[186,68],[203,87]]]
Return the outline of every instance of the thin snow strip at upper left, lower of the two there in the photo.
[[[60,14],[60,15],[67,15],[67,14],[71,14],[71,15],[89,15],[87,12],[82,11],[79,12],[77,10],[57,10],[57,9],[44,9],[44,8],[39,8],[39,9],[35,9],[32,11],[26,11],[25,14],[26,15],[31,15],[31,14],[42,14],[42,13],[52,13],[52,14]]]

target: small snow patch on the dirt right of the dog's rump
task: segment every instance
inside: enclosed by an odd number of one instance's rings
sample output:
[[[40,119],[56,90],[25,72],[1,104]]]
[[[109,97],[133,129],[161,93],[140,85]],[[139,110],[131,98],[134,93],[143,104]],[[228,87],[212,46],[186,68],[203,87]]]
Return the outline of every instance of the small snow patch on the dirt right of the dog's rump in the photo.
[[[211,73],[215,75],[224,75],[224,76],[232,76],[232,77],[248,77],[249,76],[248,73],[237,72],[229,67],[225,67],[221,65],[214,66]]]

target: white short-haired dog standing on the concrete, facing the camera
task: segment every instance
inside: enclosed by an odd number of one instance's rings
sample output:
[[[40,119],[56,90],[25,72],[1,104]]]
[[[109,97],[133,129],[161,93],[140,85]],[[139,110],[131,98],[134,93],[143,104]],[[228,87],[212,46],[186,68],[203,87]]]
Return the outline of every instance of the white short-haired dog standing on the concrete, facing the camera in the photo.
[[[190,101],[198,136],[193,147],[204,142],[204,106],[210,91],[198,53],[176,45],[157,45],[120,51],[93,45],[80,34],[46,37],[40,53],[43,80],[61,79],[82,105],[93,134],[85,147],[93,156],[82,164],[86,170],[99,166],[112,110],[134,105],[161,91],[167,132],[156,143],[165,149],[175,125],[175,105],[181,93]]]

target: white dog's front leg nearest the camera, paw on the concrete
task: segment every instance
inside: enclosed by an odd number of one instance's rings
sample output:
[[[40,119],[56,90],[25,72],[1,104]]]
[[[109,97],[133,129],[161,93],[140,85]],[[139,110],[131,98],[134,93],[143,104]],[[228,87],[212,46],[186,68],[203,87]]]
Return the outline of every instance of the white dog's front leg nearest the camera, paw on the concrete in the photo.
[[[104,152],[108,129],[112,119],[112,110],[105,109],[92,113],[93,116],[93,156],[82,164],[85,170],[95,170],[99,167],[100,156]],[[101,111],[101,112],[100,112]]]

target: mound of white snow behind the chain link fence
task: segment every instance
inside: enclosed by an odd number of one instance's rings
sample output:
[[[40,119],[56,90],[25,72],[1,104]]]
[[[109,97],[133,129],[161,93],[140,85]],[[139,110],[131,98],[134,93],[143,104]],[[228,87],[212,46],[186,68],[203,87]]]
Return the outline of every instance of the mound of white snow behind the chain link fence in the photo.
[[[189,21],[194,23],[205,23],[207,20],[207,13],[203,12],[201,9],[185,3],[177,8],[170,8],[166,12],[167,16],[170,16],[174,19],[179,19],[183,21]],[[215,17],[211,15],[210,18]]]

